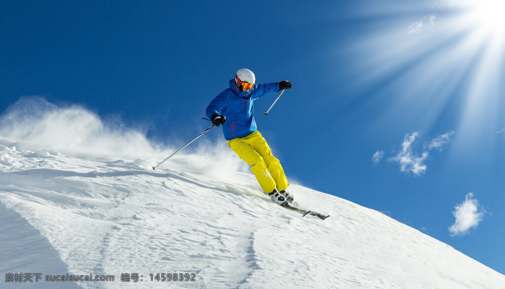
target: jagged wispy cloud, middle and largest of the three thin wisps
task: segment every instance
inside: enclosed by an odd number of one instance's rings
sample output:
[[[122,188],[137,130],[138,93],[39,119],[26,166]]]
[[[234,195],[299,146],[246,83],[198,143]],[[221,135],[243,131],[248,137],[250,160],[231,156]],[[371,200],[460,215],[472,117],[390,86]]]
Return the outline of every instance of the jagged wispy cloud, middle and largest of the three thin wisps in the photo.
[[[400,171],[413,172],[415,175],[420,176],[426,171],[427,166],[423,162],[428,157],[428,152],[424,151],[421,156],[417,156],[412,152],[412,143],[418,136],[418,132],[407,134],[401,144],[402,150],[389,160],[398,162]]]

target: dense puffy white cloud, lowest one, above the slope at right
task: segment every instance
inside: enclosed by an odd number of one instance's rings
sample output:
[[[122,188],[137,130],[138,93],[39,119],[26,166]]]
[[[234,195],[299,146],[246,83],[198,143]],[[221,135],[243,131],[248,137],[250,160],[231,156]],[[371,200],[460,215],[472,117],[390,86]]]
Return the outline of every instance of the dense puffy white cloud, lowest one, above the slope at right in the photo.
[[[468,193],[465,201],[455,206],[452,215],[456,221],[449,227],[451,236],[463,236],[471,228],[476,228],[484,217],[484,210],[479,209],[479,202],[473,198],[473,193]]]

